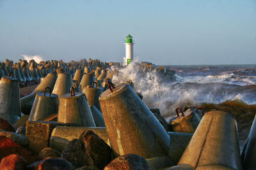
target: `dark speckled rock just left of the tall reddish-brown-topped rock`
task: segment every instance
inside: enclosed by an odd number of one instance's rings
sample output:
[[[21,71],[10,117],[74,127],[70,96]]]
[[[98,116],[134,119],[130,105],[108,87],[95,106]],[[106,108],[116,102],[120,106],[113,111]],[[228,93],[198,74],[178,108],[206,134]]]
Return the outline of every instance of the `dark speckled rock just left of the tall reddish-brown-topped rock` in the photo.
[[[62,157],[73,164],[74,167],[88,166],[88,158],[83,142],[73,139],[62,152]]]

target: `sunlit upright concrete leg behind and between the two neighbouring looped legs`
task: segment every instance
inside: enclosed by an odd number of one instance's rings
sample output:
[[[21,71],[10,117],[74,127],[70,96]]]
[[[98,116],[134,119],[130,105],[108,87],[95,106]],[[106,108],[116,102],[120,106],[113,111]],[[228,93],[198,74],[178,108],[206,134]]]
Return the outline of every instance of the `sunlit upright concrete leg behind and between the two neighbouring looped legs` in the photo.
[[[72,87],[72,76],[71,74],[59,73],[52,94],[57,94],[60,97],[63,94],[70,92]]]

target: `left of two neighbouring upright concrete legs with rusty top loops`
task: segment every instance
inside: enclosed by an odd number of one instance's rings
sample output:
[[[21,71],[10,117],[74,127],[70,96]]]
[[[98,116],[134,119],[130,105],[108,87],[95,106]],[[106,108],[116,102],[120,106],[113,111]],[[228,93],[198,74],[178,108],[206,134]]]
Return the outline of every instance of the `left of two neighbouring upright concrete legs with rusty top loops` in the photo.
[[[47,89],[49,89],[49,94],[45,93],[45,90]],[[42,120],[53,113],[58,113],[58,95],[51,94],[51,88],[49,87],[46,87],[45,90],[44,93],[36,94],[36,98],[28,118],[29,121]]]

